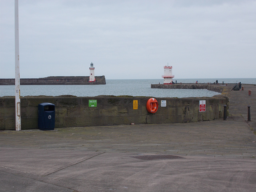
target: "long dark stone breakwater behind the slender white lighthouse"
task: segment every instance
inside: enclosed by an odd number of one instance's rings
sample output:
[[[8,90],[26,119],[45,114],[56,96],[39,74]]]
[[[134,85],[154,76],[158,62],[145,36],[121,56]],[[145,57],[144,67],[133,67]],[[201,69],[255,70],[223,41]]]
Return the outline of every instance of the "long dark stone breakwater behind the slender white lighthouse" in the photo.
[[[104,85],[105,76],[95,76],[95,82],[89,82],[89,76],[50,76],[44,78],[21,78],[20,85]],[[15,79],[0,79],[0,85],[15,85]]]

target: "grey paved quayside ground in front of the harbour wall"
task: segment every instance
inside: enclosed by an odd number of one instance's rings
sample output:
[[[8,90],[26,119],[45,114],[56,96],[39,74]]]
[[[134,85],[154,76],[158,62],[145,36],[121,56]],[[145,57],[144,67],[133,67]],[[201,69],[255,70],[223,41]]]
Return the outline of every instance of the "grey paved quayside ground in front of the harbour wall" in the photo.
[[[1,131],[0,191],[254,192],[256,86],[242,86],[225,86],[227,120]]]

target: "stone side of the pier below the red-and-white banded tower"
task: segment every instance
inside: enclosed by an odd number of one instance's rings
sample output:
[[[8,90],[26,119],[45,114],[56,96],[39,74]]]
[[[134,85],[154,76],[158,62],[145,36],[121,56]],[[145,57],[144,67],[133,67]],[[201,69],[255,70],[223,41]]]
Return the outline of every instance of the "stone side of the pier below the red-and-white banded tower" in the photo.
[[[211,84],[151,84],[151,88],[158,89],[207,89],[222,93],[223,86],[211,85]]]

